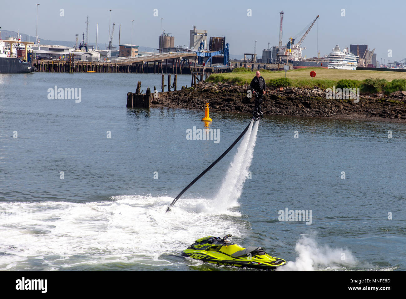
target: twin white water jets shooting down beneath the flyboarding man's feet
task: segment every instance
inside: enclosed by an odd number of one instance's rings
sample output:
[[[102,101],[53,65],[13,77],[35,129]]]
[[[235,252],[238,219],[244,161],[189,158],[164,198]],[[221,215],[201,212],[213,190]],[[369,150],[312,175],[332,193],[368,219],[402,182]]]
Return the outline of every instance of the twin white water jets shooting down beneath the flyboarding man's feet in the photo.
[[[227,175],[223,180],[220,191],[216,195],[216,203],[220,207],[229,208],[238,205],[244,181],[247,178],[248,168],[251,166],[255,141],[257,140],[258,121],[253,125],[251,121],[248,131],[245,133],[233,162],[231,162]]]

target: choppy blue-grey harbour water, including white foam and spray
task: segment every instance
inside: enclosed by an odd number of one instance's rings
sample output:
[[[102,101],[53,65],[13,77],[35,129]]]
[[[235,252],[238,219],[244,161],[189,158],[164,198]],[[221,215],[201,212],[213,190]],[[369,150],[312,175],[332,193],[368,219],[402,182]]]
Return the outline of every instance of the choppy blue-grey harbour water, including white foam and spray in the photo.
[[[406,270],[405,124],[264,118],[165,214],[250,116],[211,112],[220,142],[187,140],[203,107],[127,109],[137,81],[160,75],[0,74],[0,270],[235,271],[180,255],[225,234],[281,270]],[[54,85],[81,102],[49,100]]]

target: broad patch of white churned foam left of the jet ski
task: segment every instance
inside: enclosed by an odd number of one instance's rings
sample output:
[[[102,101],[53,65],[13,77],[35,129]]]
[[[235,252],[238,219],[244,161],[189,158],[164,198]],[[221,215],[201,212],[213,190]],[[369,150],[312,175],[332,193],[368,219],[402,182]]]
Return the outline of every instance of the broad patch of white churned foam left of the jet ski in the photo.
[[[183,199],[166,214],[169,197],[111,199],[2,203],[0,212],[7,212],[0,213],[0,271],[111,262],[170,265],[173,258],[167,255],[183,251],[197,238],[241,236],[245,231],[235,219],[238,212],[202,212],[201,207],[212,204],[207,199]]]

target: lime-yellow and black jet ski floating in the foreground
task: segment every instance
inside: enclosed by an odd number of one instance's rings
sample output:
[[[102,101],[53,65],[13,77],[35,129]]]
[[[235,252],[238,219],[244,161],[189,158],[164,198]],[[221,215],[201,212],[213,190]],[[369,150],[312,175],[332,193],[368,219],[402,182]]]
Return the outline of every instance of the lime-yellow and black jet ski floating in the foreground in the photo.
[[[274,258],[261,247],[240,247],[228,240],[232,235],[224,238],[204,237],[194,241],[182,255],[210,264],[235,267],[250,267],[264,270],[275,270],[286,263],[281,258]]]

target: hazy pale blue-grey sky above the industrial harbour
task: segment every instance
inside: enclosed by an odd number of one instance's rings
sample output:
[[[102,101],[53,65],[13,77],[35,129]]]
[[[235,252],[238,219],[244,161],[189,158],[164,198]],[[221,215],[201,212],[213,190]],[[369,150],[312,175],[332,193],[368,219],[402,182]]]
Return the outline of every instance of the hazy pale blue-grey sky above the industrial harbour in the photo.
[[[320,15],[302,46],[306,57],[320,56],[331,52],[336,44],[367,44],[376,48],[377,59],[385,62],[406,57],[404,37],[405,1],[126,1],[126,0],[19,0],[14,4],[1,0],[1,24],[4,30],[13,30],[35,36],[36,3],[38,9],[38,35],[43,39],[75,40],[86,32],[86,15],[89,15],[89,43],[96,41],[96,23],[99,23],[99,43],[108,43],[109,9],[114,29],[114,44],[119,40],[121,24],[121,44],[131,42],[131,20],[134,20],[133,44],[158,47],[161,20],[166,33],[172,33],[176,45],[189,45],[189,31],[193,25],[208,31],[208,36],[226,36],[230,43],[230,53],[242,55],[254,51],[257,40],[257,53],[279,41],[279,12],[283,17],[283,43]],[[18,3],[18,5],[17,5]],[[60,16],[64,9],[65,16]],[[158,9],[158,16],[154,16]],[[251,9],[252,16],[247,15]],[[342,9],[345,9],[345,16]],[[301,37],[301,36],[300,36]],[[296,41],[299,41],[300,37]],[[24,37],[23,37],[24,38]],[[388,57],[388,50],[393,57]],[[356,54],[356,53],[355,53]]]

